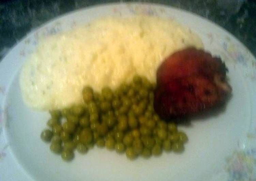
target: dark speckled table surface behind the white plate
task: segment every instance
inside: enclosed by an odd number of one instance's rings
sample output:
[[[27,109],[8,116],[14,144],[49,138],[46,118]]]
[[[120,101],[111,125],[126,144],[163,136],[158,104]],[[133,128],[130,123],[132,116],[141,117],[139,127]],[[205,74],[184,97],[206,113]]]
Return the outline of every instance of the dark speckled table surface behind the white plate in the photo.
[[[242,2],[239,3],[238,2]],[[1,0],[0,60],[19,40],[46,21],[87,6],[112,0]],[[255,0],[144,0],[170,5],[205,17],[235,35],[256,55]],[[233,2],[230,4],[228,2]],[[235,3],[234,3],[235,2]]]

